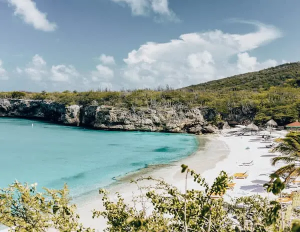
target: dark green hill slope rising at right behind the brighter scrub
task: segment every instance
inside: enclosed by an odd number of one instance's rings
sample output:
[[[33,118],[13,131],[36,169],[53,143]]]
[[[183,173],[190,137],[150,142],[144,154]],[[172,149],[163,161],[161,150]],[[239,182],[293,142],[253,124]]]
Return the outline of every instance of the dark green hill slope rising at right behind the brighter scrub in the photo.
[[[187,90],[259,90],[271,86],[300,86],[300,62],[187,86]]]

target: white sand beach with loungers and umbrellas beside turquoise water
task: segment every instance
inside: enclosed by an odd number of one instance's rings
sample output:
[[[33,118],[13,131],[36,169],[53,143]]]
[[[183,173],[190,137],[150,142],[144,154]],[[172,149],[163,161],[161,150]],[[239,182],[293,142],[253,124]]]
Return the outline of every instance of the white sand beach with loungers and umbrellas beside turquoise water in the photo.
[[[223,131],[222,134],[217,135],[205,135],[209,140],[206,142],[204,149],[173,163],[171,166],[154,169],[143,175],[163,177],[168,183],[183,190],[184,176],[180,173],[182,163],[201,173],[209,184],[213,182],[221,170],[226,171],[229,175],[235,172],[247,172],[248,177],[246,179],[233,180],[236,185],[232,190],[226,192],[224,195],[225,200],[229,196],[238,197],[251,194],[273,197],[266,193],[262,186],[269,180],[268,175],[279,167],[272,166],[270,163],[270,159],[274,154],[268,152],[269,148],[265,147],[270,143],[261,138],[258,139],[258,135],[226,136],[225,132]],[[285,134],[286,131],[272,133],[273,136],[277,137],[282,137]],[[243,162],[251,162],[252,165],[242,165]],[[188,179],[187,187],[197,189],[198,184],[194,183],[192,179]],[[108,190],[110,193],[120,192],[128,203],[130,203],[133,194],[139,194],[136,185],[129,182],[117,184]],[[111,199],[113,198],[113,194],[111,194]],[[103,219],[91,219],[91,210],[94,208],[102,208],[100,196],[79,206],[78,213],[85,225],[91,226],[97,231],[102,231],[105,227],[105,221]]]

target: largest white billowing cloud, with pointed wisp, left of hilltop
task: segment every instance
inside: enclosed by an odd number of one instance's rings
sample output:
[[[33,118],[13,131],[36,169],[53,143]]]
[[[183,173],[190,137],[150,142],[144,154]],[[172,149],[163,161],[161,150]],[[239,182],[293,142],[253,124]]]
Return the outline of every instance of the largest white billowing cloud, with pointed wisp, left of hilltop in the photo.
[[[256,27],[256,31],[246,34],[213,30],[182,34],[165,43],[142,44],[123,59],[123,84],[130,87],[158,84],[182,87],[274,66],[275,60],[259,62],[248,52],[280,37],[281,32],[261,23]],[[232,58],[237,61],[231,61]]]

